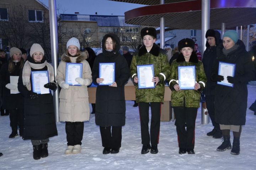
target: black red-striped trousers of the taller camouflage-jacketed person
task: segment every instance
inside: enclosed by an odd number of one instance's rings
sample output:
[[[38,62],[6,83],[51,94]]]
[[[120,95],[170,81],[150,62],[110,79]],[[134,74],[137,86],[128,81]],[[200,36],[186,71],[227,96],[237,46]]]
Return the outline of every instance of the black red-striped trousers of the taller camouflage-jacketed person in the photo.
[[[142,145],[158,145],[160,132],[161,102],[150,102],[151,123],[149,135],[149,103],[139,102],[140,131],[142,136]]]

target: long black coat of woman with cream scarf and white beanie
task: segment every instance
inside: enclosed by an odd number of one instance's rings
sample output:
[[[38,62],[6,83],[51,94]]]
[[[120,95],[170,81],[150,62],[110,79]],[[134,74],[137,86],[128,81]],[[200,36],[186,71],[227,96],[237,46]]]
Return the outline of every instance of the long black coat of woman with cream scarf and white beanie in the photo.
[[[31,71],[43,70],[47,70],[47,66],[42,69],[31,68]],[[52,94],[42,94],[36,99],[28,98],[29,91],[23,85],[22,71],[18,80],[18,90],[25,97],[23,138],[42,140],[58,135]]]

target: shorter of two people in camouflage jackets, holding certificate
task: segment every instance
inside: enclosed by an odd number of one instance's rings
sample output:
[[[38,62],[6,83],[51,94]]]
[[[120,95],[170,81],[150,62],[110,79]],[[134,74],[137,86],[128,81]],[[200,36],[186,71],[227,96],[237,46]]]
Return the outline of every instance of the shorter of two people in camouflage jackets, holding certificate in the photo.
[[[192,39],[186,38],[178,42],[181,53],[171,63],[171,75],[168,79],[172,90],[171,105],[176,118],[179,154],[194,154],[194,131],[197,109],[200,107],[200,92],[207,81],[203,64],[193,48]]]

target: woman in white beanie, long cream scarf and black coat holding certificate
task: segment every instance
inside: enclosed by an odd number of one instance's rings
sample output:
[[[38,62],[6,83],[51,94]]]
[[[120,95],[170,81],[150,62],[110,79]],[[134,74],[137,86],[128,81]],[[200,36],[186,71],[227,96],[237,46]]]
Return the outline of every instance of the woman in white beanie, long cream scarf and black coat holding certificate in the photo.
[[[31,57],[30,57],[31,56]],[[58,135],[53,106],[53,96],[49,92],[55,90],[54,71],[51,64],[47,63],[44,57],[44,50],[39,44],[33,44],[30,49],[30,56],[20,73],[18,79],[18,90],[24,96],[24,140],[30,139],[33,145],[33,158],[40,159],[48,156],[49,137]],[[37,94],[35,84],[41,84],[40,77],[33,78],[33,72],[48,73],[47,82],[44,87],[38,87]],[[45,74],[44,74],[45,75]],[[38,81],[39,80],[39,81]],[[48,93],[43,94],[47,88]]]

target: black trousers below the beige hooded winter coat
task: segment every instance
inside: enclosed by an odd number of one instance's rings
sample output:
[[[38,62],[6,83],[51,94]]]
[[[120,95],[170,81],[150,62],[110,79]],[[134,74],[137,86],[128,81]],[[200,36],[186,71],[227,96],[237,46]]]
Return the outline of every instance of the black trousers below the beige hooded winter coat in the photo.
[[[82,137],[84,134],[84,122],[76,121],[70,122],[66,121],[66,138],[68,141],[68,146],[82,145]]]

